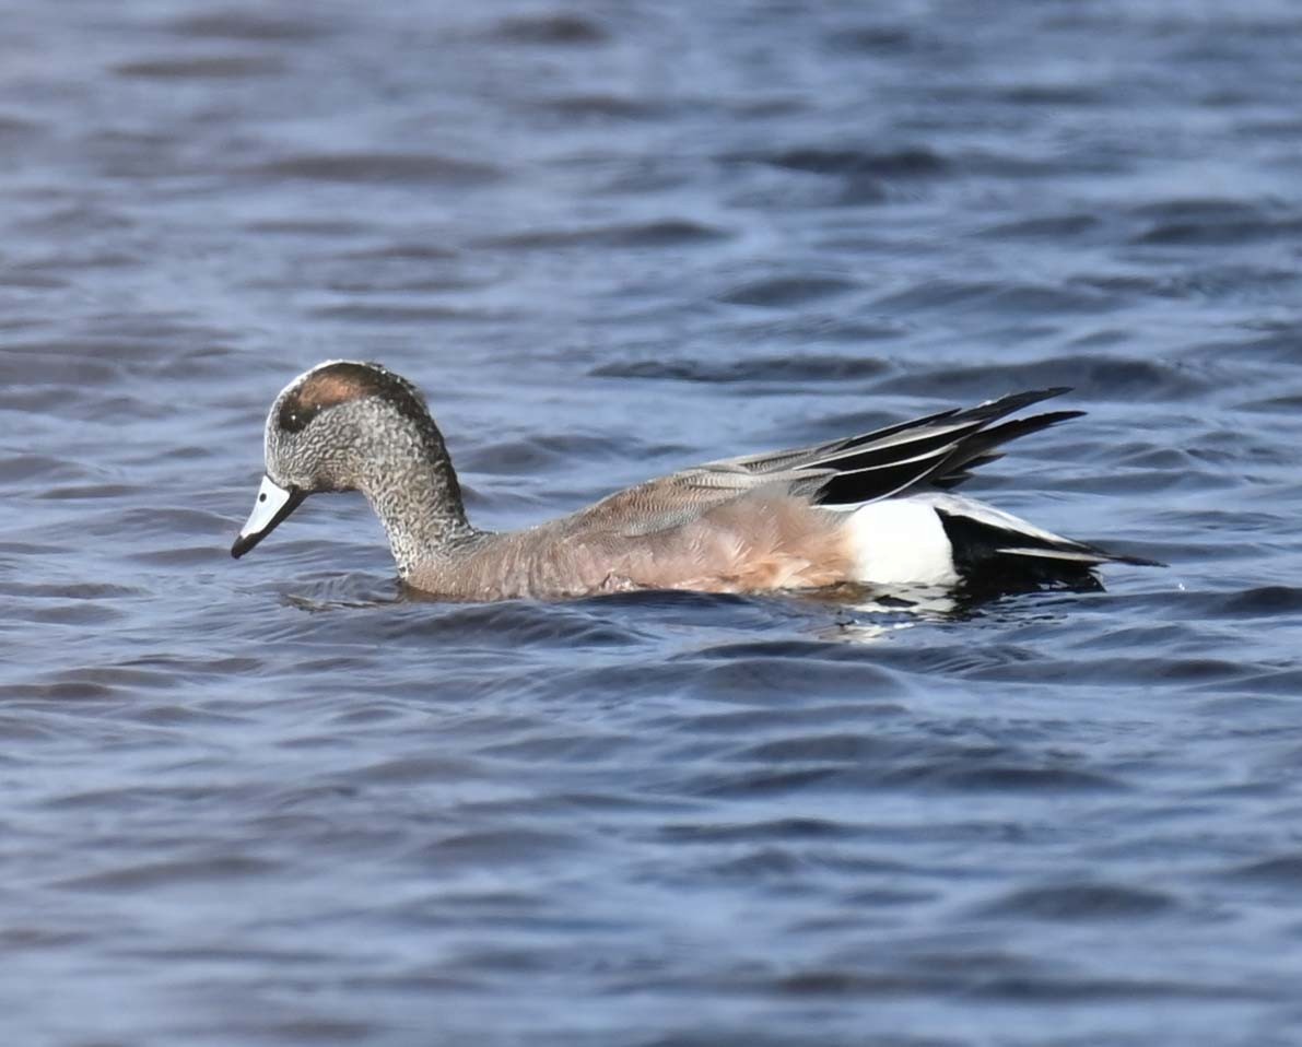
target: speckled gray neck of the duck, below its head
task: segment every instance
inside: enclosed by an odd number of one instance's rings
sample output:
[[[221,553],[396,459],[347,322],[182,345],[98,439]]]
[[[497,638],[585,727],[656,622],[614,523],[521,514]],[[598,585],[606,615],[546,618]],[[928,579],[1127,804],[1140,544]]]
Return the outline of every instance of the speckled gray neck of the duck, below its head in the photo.
[[[461,484],[431,425],[415,444],[402,441],[385,454],[361,484],[384,526],[398,574],[408,577],[418,564],[456,553],[474,543],[480,531],[466,518]]]

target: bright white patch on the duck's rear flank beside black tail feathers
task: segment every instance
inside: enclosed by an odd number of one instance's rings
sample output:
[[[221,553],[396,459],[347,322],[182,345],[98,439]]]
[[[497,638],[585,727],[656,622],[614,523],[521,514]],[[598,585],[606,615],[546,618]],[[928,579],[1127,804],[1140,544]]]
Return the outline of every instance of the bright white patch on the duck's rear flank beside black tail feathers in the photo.
[[[854,581],[866,585],[953,585],[953,547],[930,501],[892,497],[850,512]]]

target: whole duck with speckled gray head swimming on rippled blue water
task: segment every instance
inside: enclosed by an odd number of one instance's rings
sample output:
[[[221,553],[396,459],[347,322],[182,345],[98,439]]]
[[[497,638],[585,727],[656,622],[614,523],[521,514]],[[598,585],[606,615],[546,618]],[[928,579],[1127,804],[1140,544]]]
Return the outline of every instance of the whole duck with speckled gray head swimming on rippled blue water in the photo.
[[[1009,418],[1066,392],[1009,393],[811,447],[711,461],[495,533],[467,518],[421,391],[380,363],[326,361],[271,405],[266,475],[230,555],[253,550],[309,495],[355,490],[379,517],[401,581],[449,600],[1038,585],[1096,579],[1103,564],[1159,565],[956,494],[1004,444],[1082,415]]]

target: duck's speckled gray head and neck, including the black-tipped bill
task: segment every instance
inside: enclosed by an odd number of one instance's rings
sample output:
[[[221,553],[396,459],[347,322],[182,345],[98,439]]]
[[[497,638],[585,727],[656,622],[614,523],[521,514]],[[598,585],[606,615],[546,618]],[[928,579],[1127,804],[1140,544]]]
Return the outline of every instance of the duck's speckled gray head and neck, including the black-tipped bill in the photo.
[[[421,543],[469,530],[452,462],[421,392],[379,363],[327,361],[267,414],[267,474],[230,555],[243,556],[322,491],[362,491],[400,570]]]

